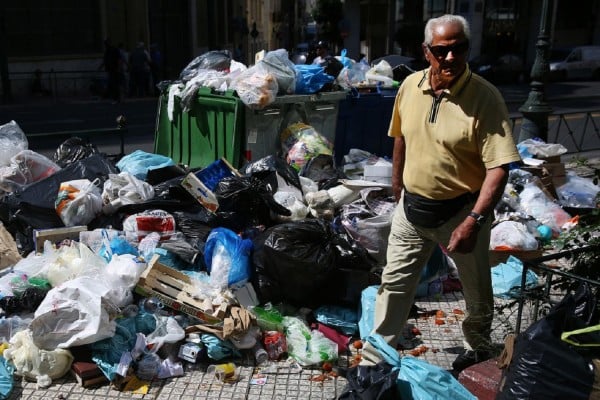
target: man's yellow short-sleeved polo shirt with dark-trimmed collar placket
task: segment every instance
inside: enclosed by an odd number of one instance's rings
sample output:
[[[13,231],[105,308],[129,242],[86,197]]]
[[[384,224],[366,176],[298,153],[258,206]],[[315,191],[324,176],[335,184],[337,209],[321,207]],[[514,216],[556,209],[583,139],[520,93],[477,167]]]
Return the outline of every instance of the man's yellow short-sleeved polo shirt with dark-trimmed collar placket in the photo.
[[[468,66],[438,98],[429,69],[408,76],[398,89],[388,135],[406,142],[404,187],[430,199],[475,193],[486,169],[521,160],[504,99]]]

